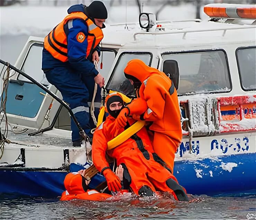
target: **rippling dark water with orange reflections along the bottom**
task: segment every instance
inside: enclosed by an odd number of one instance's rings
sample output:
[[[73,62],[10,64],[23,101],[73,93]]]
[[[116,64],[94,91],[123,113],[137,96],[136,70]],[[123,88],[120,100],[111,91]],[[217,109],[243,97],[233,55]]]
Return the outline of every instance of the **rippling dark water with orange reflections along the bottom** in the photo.
[[[0,220],[84,219],[246,219],[256,214],[256,197],[191,196],[194,202],[177,202],[169,195],[138,199],[53,201],[46,199],[0,200]]]

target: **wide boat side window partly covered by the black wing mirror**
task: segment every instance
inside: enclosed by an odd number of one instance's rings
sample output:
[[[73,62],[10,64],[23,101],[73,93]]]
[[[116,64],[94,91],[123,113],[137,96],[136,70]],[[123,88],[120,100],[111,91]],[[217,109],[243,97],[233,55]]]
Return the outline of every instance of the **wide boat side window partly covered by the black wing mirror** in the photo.
[[[178,94],[231,90],[228,63],[223,50],[164,53],[162,57],[162,71],[171,73],[174,82],[179,80]]]

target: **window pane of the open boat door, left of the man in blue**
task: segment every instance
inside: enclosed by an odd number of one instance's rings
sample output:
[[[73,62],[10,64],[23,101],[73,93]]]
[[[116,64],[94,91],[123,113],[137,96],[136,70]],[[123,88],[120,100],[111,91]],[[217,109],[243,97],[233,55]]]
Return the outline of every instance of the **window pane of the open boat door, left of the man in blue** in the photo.
[[[40,43],[34,43],[29,48],[27,57],[22,65],[21,71],[25,72],[32,78],[34,78],[37,82],[40,82],[46,86],[49,85],[49,82],[47,81],[45,74],[43,72],[42,68],[42,50],[43,50],[43,44]],[[20,75],[18,76],[18,80],[30,82],[27,78]]]

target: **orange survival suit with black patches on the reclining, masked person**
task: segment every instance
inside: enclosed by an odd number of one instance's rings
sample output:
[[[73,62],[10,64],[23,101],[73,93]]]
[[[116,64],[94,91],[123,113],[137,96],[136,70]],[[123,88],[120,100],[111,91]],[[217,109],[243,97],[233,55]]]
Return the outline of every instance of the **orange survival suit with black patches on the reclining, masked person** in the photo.
[[[95,167],[106,177],[109,190],[118,190],[118,177],[109,168],[106,153],[116,159],[124,168],[124,180],[129,183],[131,190],[139,196],[153,196],[153,192],[163,191],[173,194],[176,200],[188,201],[184,189],[179,185],[170,171],[160,163],[163,162],[154,153],[152,144],[145,127],[132,135],[122,144],[108,150],[108,141],[112,140],[116,133],[116,118],[120,110],[111,111],[109,106],[113,102],[124,104],[118,93],[111,93],[106,98],[106,108],[109,116],[94,132],[92,141],[92,160]],[[119,112],[118,112],[119,111]],[[139,111],[136,112],[139,114]],[[125,128],[118,130],[120,134],[136,120],[128,117]],[[156,162],[159,161],[160,163]],[[120,181],[120,180],[119,180]]]

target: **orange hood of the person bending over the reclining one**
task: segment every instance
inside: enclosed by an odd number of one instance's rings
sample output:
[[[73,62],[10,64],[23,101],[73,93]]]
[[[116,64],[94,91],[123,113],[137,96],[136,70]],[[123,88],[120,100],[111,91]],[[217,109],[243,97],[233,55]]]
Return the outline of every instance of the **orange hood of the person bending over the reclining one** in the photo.
[[[139,59],[133,59],[127,63],[124,73],[127,79],[133,80],[133,78],[136,78],[140,82],[143,82],[151,74],[153,73],[159,74],[160,71],[153,67],[147,66],[143,61]],[[136,81],[136,80],[133,80],[133,81]]]

